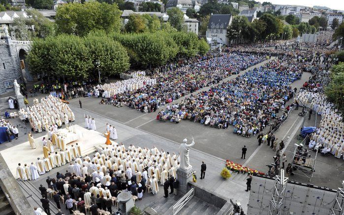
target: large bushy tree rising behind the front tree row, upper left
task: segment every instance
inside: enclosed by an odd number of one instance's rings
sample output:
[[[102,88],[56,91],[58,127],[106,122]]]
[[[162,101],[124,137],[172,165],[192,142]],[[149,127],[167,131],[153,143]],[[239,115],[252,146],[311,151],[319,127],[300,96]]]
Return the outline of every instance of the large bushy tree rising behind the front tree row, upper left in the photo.
[[[84,4],[68,3],[58,7],[55,22],[58,33],[84,36],[95,30],[119,32],[121,14],[117,4],[97,1]]]

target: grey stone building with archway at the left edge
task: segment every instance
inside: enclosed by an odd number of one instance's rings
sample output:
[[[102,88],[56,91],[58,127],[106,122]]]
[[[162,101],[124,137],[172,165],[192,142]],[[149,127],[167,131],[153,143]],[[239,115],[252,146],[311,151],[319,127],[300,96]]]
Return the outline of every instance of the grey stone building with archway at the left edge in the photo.
[[[13,91],[14,79],[21,84],[30,76],[25,66],[29,47],[30,41],[12,41],[10,36],[0,40],[0,94]]]

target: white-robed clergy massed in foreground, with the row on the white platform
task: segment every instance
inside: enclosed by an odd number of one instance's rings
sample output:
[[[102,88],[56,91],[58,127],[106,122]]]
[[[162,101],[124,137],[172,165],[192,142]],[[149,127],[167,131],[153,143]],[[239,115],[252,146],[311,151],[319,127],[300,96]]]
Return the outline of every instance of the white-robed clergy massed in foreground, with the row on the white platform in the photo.
[[[141,149],[130,145],[126,150],[123,143],[112,144],[103,148],[101,154],[96,151],[93,158],[87,155],[83,160],[78,157],[80,154],[77,154],[77,152],[77,148],[72,147],[69,153],[61,154],[60,152],[58,154],[55,152],[55,155],[48,154],[48,157],[44,157],[43,160],[37,158],[36,165],[31,164],[32,167],[30,168],[36,169],[38,175],[42,175],[52,168],[64,165],[68,161],[68,171],[70,173],[75,173],[78,177],[85,177],[88,174],[92,177],[93,182],[99,182],[103,185],[111,180],[111,176],[108,175],[111,168],[114,170],[114,174],[119,177],[125,178],[127,176],[130,179],[133,175],[136,175],[137,179],[141,179],[141,176],[143,176],[147,184],[151,186],[152,193],[156,194],[158,192],[158,182],[162,185],[169,177],[176,178],[177,168],[180,166],[179,156],[175,153],[172,155],[166,153],[163,149],[159,151],[156,147]],[[18,166],[17,173],[21,170],[22,167]],[[22,178],[19,173],[18,176],[22,180],[30,179],[29,177]],[[35,179],[31,178],[31,180]],[[95,187],[94,189],[98,188]]]

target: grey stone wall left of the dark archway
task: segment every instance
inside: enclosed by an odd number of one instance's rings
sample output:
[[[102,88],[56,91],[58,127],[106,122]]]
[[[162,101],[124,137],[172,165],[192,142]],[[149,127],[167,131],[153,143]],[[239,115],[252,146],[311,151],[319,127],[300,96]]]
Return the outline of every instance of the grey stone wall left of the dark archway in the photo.
[[[22,70],[20,69],[19,55],[16,44],[7,44],[3,40],[0,41],[0,93],[13,91],[6,89],[5,82],[10,81],[13,84],[14,79],[23,83]]]

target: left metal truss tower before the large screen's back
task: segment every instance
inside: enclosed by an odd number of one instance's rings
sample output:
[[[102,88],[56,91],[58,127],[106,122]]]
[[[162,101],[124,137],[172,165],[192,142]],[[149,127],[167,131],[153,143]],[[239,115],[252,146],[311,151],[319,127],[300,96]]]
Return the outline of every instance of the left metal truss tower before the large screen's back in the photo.
[[[288,178],[284,177],[284,170],[281,169],[281,175],[275,177],[275,187],[269,205],[269,215],[281,215],[283,198],[287,184]]]

